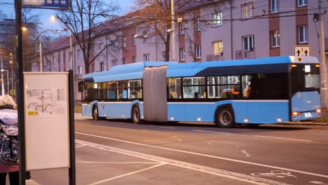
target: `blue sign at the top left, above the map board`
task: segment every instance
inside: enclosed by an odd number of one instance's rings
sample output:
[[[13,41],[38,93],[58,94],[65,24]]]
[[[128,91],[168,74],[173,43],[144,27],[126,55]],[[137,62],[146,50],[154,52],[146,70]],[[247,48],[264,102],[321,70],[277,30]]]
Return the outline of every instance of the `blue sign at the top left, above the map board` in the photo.
[[[22,0],[22,6],[28,8],[70,8],[71,0]]]

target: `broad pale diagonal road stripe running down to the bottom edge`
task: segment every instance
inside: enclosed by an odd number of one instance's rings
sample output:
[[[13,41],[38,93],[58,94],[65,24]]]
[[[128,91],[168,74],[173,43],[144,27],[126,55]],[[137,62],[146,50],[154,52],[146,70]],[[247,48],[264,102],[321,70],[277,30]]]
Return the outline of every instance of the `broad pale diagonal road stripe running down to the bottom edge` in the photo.
[[[86,142],[86,141],[81,141],[78,140],[78,142],[83,142],[83,144],[87,144],[90,147],[96,148],[96,149],[102,149],[102,150],[106,150],[106,151],[111,151],[111,152],[116,152],[116,153],[121,153],[127,156],[134,156],[136,158],[144,158],[147,160],[152,160],[152,161],[156,161],[157,163],[160,164],[168,164],[168,165],[175,165],[177,167],[183,167],[189,170],[195,170],[198,172],[204,172],[207,174],[213,174],[213,175],[217,175],[220,177],[226,177],[229,179],[235,179],[238,181],[245,181],[247,183],[251,183],[251,184],[258,184],[258,185],[264,185],[264,184],[273,184],[273,185],[287,185],[287,184],[283,184],[281,182],[278,181],[272,181],[269,179],[262,179],[261,177],[252,177],[250,175],[246,175],[246,174],[238,174],[235,172],[228,172],[226,170],[219,170],[213,167],[207,167],[207,166],[203,166],[203,165],[196,165],[193,163],[186,163],[180,160],[173,160],[170,158],[162,158],[159,156],[153,156],[153,155],[149,155],[146,153],[139,153],[137,151],[129,151],[129,150],[125,150],[125,149],[118,149],[116,147],[112,147],[112,146],[107,146],[107,145],[103,145],[103,144],[96,144],[96,143],[91,143],[91,142]]]

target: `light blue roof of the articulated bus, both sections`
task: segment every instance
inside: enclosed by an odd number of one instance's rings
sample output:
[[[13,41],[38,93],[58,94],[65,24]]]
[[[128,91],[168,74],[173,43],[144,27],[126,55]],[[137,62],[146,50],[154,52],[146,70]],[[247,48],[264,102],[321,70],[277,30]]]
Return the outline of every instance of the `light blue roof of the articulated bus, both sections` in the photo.
[[[128,79],[140,79],[143,77],[145,67],[168,66],[168,77],[177,76],[204,76],[211,75],[213,71],[220,71],[222,75],[228,75],[235,70],[245,71],[245,66],[249,72],[257,72],[265,69],[272,72],[283,72],[287,70],[289,63],[319,63],[316,57],[295,57],[295,56],[279,56],[279,57],[263,57],[245,60],[223,60],[214,62],[137,62],[133,64],[124,64],[112,67],[108,71],[100,71],[86,74],[83,81],[104,82],[104,81],[122,81]],[[265,66],[262,66],[265,65]],[[283,65],[284,67],[281,67]],[[256,67],[259,66],[259,67]],[[242,68],[242,69],[241,69]],[[257,71],[254,71],[257,69]]]

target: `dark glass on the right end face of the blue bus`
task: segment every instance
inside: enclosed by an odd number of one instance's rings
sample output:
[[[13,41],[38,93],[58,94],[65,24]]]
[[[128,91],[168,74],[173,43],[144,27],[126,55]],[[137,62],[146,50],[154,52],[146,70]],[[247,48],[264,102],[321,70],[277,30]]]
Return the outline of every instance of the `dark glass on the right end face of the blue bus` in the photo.
[[[319,64],[292,64],[292,94],[320,90]]]

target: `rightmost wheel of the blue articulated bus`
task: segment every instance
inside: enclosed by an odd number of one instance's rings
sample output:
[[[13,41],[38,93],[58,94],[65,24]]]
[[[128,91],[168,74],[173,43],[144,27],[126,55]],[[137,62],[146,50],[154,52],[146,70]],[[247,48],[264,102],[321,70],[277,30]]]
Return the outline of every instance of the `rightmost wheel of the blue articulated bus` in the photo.
[[[234,128],[235,118],[233,118],[233,111],[228,108],[220,109],[217,113],[217,125],[221,128]]]

